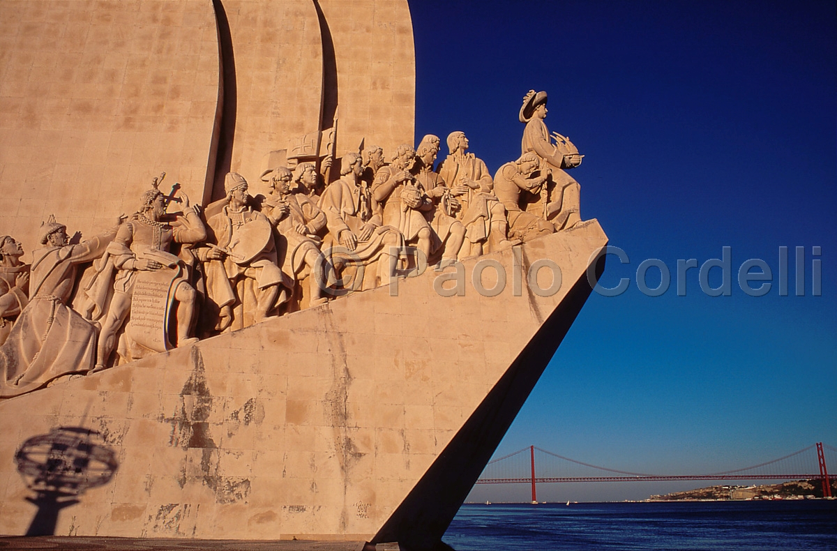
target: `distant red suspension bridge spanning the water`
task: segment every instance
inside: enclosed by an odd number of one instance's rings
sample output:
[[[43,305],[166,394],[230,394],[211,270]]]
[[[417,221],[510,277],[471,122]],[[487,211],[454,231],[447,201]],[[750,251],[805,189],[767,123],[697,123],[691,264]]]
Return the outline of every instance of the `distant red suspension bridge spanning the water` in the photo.
[[[816,448],[816,452],[814,452],[814,448]],[[476,483],[531,484],[531,501],[537,502],[536,484],[543,482],[819,479],[822,483],[824,497],[831,497],[829,481],[837,480],[837,474],[829,475],[826,460],[832,466],[837,465],[837,448],[818,442],[802,450],[794,451],[787,456],[732,471],[711,472],[704,475],[660,475],[619,471],[619,469],[591,465],[531,445],[528,448],[490,461]]]

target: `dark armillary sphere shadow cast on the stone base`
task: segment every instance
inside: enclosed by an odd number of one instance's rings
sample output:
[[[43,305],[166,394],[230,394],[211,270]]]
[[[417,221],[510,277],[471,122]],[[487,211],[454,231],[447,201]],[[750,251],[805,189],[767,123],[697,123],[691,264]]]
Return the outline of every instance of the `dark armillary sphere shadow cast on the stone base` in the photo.
[[[27,501],[38,507],[28,536],[55,533],[58,513],[78,503],[90,488],[104,486],[116,472],[116,453],[102,435],[83,427],[59,427],[23,442],[15,453],[26,486],[35,492]]]

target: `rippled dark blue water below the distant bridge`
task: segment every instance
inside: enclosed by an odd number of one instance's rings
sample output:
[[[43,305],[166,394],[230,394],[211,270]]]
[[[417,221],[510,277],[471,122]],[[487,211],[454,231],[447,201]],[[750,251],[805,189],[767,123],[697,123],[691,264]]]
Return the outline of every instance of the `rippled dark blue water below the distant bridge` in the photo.
[[[837,501],[464,505],[443,539],[456,551],[837,550]]]

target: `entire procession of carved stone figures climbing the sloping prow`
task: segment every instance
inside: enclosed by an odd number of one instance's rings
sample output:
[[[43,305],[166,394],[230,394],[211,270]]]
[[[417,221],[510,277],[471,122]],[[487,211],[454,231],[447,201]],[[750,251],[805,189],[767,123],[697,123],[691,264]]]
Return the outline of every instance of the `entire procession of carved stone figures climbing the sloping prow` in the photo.
[[[261,172],[266,194],[251,196],[244,177],[227,173],[224,197],[201,209],[177,183],[163,193],[163,173],[136,213],[93,239],[70,245],[50,219],[32,281],[21,245],[0,237],[0,394],[319,306],[422,261],[482,255],[577,224],[579,186],[565,170],[582,156],[548,133],[546,103],[546,92],[526,94],[522,155],[495,178],[461,131],[447,137],[437,167],[434,135],[417,150],[397,147],[389,163],[376,146],[338,159],[331,145],[319,157],[278,150],[265,158],[290,166]],[[341,174],[330,182],[332,164]]]

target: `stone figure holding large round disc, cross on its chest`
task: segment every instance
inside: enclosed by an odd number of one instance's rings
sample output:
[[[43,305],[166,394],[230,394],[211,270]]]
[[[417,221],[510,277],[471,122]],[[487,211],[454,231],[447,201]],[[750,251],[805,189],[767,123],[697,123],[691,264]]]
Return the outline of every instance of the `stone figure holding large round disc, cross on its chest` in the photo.
[[[240,174],[227,174],[227,196],[207,208],[208,242],[196,251],[204,262],[208,300],[218,310],[218,331],[261,322],[293,289],[279,268],[270,220],[249,204],[247,189]]]

